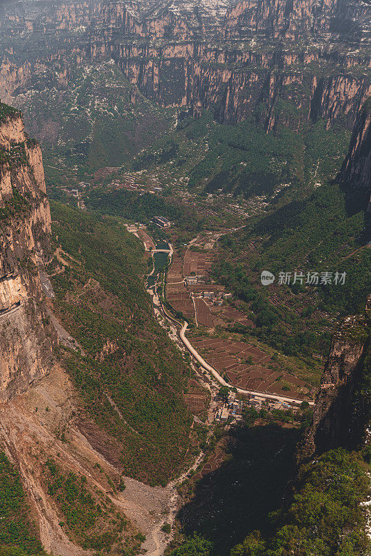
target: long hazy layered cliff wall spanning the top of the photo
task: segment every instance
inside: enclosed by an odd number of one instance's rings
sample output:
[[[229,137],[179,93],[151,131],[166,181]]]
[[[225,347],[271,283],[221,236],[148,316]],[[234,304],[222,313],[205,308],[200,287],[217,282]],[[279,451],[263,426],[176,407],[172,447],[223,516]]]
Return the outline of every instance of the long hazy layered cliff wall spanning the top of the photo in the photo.
[[[75,63],[113,58],[161,106],[190,106],[195,115],[211,109],[232,124],[254,116],[267,131],[279,124],[296,130],[321,118],[352,129],[371,95],[371,6],[228,4],[77,1],[32,8],[31,2],[2,23],[0,95],[41,90],[46,75],[63,90]],[[8,40],[20,36],[15,44]]]

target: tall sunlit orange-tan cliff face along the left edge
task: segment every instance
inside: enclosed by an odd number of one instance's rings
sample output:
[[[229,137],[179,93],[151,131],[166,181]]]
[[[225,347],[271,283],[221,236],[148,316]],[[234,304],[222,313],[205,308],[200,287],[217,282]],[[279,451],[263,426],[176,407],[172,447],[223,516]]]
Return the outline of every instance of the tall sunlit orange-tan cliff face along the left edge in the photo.
[[[56,332],[38,265],[50,256],[42,155],[22,116],[0,104],[0,399],[28,389],[51,367]]]

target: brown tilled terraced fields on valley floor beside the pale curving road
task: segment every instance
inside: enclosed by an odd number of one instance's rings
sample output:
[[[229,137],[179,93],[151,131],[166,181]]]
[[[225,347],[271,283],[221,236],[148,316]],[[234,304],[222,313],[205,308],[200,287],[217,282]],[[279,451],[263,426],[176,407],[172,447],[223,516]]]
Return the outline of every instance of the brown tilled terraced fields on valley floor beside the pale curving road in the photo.
[[[216,306],[212,300],[195,297],[194,306],[191,294],[199,295],[202,291],[212,291],[220,295],[224,291],[224,287],[217,284],[186,286],[182,282],[183,277],[190,276],[191,273],[204,277],[204,281],[207,282],[212,261],[213,254],[188,250],[183,260],[178,254],[174,254],[172,267],[167,275],[167,300],[186,318],[195,319],[196,306],[199,326],[215,329],[217,325],[226,327],[233,322],[239,322],[254,327],[254,322],[249,320],[245,313],[225,302],[222,306]],[[311,397],[311,386],[308,386],[304,380],[290,375],[285,368],[279,366],[277,361],[272,360],[270,354],[254,345],[233,339],[204,336],[192,339],[192,345],[220,375],[226,375],[230,384],[234,386],[303,400]],[[195,408],[192,411],[196,411],[199,403],[197,396],[187,394],[186,402]]]

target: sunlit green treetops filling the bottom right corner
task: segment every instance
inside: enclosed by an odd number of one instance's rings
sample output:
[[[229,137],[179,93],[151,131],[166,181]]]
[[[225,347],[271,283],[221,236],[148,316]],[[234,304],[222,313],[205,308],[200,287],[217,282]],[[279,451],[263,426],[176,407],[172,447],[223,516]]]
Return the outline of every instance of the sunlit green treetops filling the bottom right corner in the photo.
[[[359,507],[368,493],[365,461],[345,450],[331,450],[303,466],[286,510],[272,516],[277,532],[265,541],[252,532],[231,556],[356,556],[368,553],[365,515]]]

